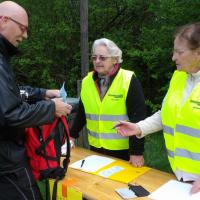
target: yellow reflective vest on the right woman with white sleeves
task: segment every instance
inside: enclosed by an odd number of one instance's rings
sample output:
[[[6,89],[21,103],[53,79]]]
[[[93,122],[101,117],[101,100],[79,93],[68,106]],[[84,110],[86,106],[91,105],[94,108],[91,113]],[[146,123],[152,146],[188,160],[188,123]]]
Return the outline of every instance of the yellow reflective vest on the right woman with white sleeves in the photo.
[[[188,75],[175,71],[161,115],[172,170],[200,174],[200,83],[182,104]]]

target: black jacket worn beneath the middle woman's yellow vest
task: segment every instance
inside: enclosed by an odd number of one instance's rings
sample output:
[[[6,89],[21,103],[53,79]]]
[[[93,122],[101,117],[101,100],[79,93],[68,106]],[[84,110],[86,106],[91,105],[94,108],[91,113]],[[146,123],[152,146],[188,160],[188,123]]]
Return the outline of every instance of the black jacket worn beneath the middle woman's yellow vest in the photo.
[[[111,76],[111,83],[117,75],[119,69],[116,73]],[[98,83],[97,73],[93,75],[94,81]],[[131,122],[138,122],[143,120],[146,115],[145,99],[142,92],[142,87],[139,80],[133,74],[128,89],[128,94],[126,98],[127,115]],[[79,132],[86,124],[85,109],[83,103],[80,99],[77,115],[71,127],[71,136],[74,138],[79,137]],[[130,155],[142,155],[144,152],[144,138],[138,139],[136,136],[129,137],[129,153]]]

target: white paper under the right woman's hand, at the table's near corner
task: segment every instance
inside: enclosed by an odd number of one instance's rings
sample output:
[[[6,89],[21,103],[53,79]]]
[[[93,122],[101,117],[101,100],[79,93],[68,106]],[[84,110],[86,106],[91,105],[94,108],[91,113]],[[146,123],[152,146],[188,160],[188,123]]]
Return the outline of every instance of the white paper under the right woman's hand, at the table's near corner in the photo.
[[[191,184],[170,180],[149,195],[153,200],[200,200],[200,192],[190,194]]]

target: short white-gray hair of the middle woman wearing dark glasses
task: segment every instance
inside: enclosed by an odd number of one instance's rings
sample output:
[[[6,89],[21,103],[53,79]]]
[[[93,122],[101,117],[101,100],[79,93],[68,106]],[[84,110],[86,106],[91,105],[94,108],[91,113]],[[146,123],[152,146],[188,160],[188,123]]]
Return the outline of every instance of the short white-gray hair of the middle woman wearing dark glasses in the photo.
[[[103,45],[107,48],[110,56],[115,57],[118,63],[122,63],[122,51],[121,49],[111,40],[106,38],[97,39],[92,45],[92,54],[97,46]]]

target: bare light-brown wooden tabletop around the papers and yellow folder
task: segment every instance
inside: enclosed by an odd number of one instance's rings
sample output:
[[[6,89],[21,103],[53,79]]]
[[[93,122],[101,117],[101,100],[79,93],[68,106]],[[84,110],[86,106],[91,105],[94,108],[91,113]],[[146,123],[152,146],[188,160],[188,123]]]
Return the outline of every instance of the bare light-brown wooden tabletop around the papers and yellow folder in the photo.
[[[93,154],[97,153],[80,147],[75,147],[71,152],[70,163]],[[90,200],[120,200],[121,197],[115,192],[115,189],[127,187],[127,184],[125,183],[109,180],[97,175],[75,170],[70,167],[68,168],[67,177],[76,180],[75,188],[81,191],[83,195]],[[148,191],[153,192],[170,179],[175,179],[175,177],[169,173],[156,169],[150,169],[148,172],[132,181],[132,183],[142,185]],[[140,197],[134,199],[144,200],[149,198]]]

